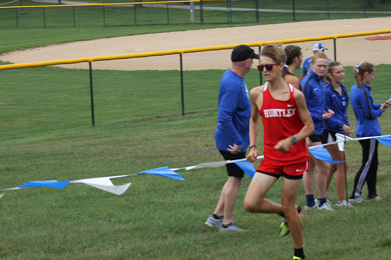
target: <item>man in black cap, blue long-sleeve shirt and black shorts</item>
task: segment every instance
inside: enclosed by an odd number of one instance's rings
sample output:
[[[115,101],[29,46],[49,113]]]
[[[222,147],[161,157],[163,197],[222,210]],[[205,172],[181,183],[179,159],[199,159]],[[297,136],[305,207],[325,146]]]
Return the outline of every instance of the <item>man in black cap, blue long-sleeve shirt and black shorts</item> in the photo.
[[[251,103],[243,77],[251,70],[253,59],[259,59],[247,45],[234,48],[231,55],[232,68],[225,71],[218,92],[218,116],[215,132],[216,147],[224,160],[244,159],[249,138]],[[228,180],[221,191],[214,214],[205,224],[219,226],[220,232],[242,231],[233,221],[243,170],[235,163],[227,163]]]

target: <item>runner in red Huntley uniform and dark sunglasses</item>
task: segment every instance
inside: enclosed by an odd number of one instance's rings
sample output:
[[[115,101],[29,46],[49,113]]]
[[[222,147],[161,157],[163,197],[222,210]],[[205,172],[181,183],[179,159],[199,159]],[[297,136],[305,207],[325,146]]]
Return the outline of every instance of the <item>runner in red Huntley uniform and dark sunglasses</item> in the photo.
[[[264,159],[251,180],[244,207],[252,213],[275,213],[284,219],[280,235],[291,233],[294,260],[304,259],[303,223],[296,199],[307,169],[305,138],[314,131],[304,95],[282,79],[286,55],[280,45],[267,44],[261,52],[258,69],[266,84],[250,91],[250,152],[247,160],[257,159],[256,139],[260,115],[263,124]],[[271,186],[282,176],[281,204],[265,199]]]

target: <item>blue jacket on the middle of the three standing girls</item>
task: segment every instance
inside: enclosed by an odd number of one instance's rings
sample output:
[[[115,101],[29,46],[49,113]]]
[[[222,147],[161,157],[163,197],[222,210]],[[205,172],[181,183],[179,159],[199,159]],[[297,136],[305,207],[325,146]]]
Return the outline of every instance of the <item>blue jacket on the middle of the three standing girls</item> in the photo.
[[[342,125],[346,124],[350,126],[348,121],[348,115],[346,113],[349,105],[349,97],[348,91],[342,84],[341,90],[342,95],[340,96],[330,82],[327,82],[326,84],[326,110],[331,109],[332,111],[334,111],[335,114],[334,116],[325,120],[325,129],[344,135],[345,131],[342,129]]]

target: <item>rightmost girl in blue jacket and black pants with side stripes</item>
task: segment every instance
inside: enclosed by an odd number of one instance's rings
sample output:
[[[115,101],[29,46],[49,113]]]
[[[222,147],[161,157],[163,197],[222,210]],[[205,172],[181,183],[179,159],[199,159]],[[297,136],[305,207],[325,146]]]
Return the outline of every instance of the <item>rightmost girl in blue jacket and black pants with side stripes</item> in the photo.
[[[350,101],[357,119],[356,136],[371,137],[381,135],[381,129],[377,117],[380,117],[391,103],[391,99],[385,103],[373,103],[370,95],[369,84],[375,78],[375,66],[367,61],[361,61],[353,68],[356,84],[350,89]],[[377,146],[379,141],[374,138],[360,140],[363,148],[363,163],[354,179],[353,192],[349,201],[361,202],[361,190],[364,182],[368,185],[368,200],[381,200],[376,193],[377,174]]]

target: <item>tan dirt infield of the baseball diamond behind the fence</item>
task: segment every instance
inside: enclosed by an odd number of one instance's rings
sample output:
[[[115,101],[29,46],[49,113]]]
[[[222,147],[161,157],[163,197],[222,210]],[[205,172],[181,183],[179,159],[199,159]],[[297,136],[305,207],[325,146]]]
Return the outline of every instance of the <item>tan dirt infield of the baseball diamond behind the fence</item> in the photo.
[[[232,28],[216,28],[205,30],[191,30],[183,32],[145,34],[116,38],[105,38],[89,41],[53,44],[45,47],[4,53],[0,60],[12,63],[39,62],[48,60],[67,60],[95,56],[109,56],[154,51],[167,51],[195,47],[218,46],[227,44],[250,43],[268,40],[286,40],[305,37],[319,37],[326,35],[367,32],[390,29],[391,17],[347,19],[347,20],[320,20],[302,21],[285,24],[254,25]],[[367,36],[368,37],[368,36]],[[332,55],[333,41],[322,41]],[[366,40],[365,37],[346,38],[337,40],[337,60],[344,65],[353,65],[360,60],[368,60],[375,64],[391,63],[391,40]],[[304,49],[304,56],[312,55],[314,42],[297,44]],[[201,53],[186,54],[192,60],[186,70],[198,69],[225,69],[230,66],[230,51],[220,51],[223,55],[216,55],[210,59],[210,53],[205,53],[208,60],[205,62]],[[206,58],[206,57],[205,57]],[[333,57],[330,57],[333,58]],[[146,59],[146,58],[138,58]],[[141,70],[156,69],[151,62],[161,62],[161,58],[149,58],[148,62],[100,62],[100,69]],[[133,59],[137,60],[137,59]],[[178,61],[166,59],[165,69],[178,69]],[[333,59],[332,59],[333,60]],[[125,64],[125,63],[126,64]],[[133,64],[134,63],[134,64]],[[141,63],[141,64],[140,64]],[[106,65],[104,65],[106,64]],[[69,65],[67,66],[69,67]]]

